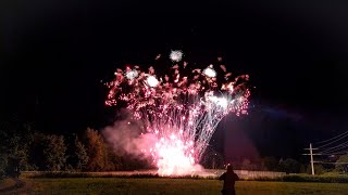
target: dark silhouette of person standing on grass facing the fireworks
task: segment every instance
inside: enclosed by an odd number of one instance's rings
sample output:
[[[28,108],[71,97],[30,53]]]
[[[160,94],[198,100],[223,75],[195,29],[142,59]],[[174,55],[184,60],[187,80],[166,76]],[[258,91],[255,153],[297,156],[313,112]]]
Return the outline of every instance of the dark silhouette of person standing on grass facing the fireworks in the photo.
[[[236,195],[235,182],[239,180],[239,177],[233,171],[232,165],[227,166],[227,171],[224,172],[219,180],[224,181],[222,187],[222,195]]]

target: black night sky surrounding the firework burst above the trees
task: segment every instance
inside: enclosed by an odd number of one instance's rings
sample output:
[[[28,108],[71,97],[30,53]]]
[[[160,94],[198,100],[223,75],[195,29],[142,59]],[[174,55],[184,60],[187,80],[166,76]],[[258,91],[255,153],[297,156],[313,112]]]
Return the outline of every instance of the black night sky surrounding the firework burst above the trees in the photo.
[[[1,114],[34,120],[49,133],[100,129],[112,115],[100,81],[126,63],[152,62],[158,53],[179,49],[207,65],[222,55],[229,70],[249,74],[256,87],[249,116],[223,120],[214,136],[223,146],[216,147],[229,156],[243,155],[234,151],[246,146],[261,156],[297,156],[309,142],[334,136],[348,125],[347,5],[323,0],[1,2]]]

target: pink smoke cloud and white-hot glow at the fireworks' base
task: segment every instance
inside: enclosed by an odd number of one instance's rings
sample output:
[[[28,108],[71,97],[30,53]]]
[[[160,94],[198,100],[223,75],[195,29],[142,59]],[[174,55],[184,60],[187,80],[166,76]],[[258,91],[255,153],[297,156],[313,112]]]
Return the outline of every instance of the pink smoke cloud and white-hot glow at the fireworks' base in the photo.
[[[128,115],[128,112],[122,113]],[[141,121],[126,117],[104,128],[102,134],[117,154],[152,159],[161,176],[183,176],[202,170],[200,165],[195,165],[194,156],[185,155],[186,146],[175,135],[170,140],[159,139],[153,133],[141,133],[142,127]],[[158,159],[152,156],[154,150],[158,150]]]

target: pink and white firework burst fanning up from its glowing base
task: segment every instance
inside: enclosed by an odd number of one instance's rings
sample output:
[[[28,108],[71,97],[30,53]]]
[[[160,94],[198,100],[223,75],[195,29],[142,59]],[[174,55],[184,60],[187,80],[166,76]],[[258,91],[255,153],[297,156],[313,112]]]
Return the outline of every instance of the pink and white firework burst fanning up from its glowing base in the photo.
[[[247,114],[250,95],[248,75],[232,77],[222,64],[217,72],[213,65],[190,68],[182,56],[172,51],[173,66],[161,76],[152,66],[146,70],[127,66],[105,83],[110,88],[105,105],[125,105],[134,119],[144,121],[144,133],[157,138],[140,151],[152,157],[162,176],[195,171],[217,123],[229,113]]]

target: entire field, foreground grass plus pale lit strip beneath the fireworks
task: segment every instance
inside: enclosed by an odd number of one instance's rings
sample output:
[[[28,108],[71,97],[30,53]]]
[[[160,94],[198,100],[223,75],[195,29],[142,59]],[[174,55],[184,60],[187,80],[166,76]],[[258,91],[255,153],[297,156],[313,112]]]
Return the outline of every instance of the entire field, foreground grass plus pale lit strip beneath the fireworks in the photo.
[[[120,172],[23,172],[20,179],[2,180],[5,194],[220,194],[222,182],[216,176],[224,170],[204,170],[200,176],[161,178],[148,171]],[[346,194],[347,177],[236,170],[243,181],[237,194]],[[260,178],[258,178],[260,177]],[[266,177],[266,178],[264,178]],[[275,178],[274,178],[275,177]],[[251,181],[259,180],[259,181]],[[264,180],[264,181],[260,181]],[[287,181],[287,182],[285,182]],[[291,182],[289,182],[291,181]],[[299,182],[302,181],[302,182]],[[306,181],[306,182],[303,182]]]

